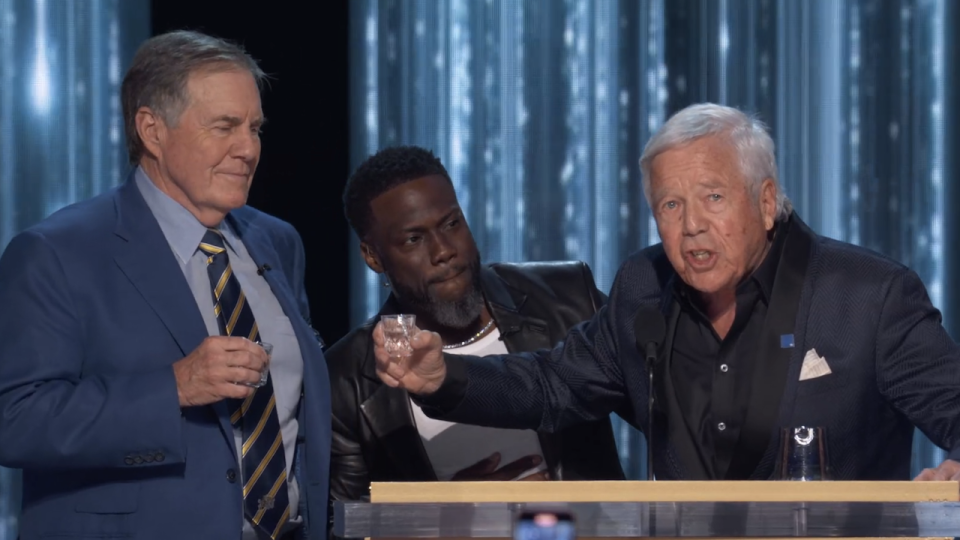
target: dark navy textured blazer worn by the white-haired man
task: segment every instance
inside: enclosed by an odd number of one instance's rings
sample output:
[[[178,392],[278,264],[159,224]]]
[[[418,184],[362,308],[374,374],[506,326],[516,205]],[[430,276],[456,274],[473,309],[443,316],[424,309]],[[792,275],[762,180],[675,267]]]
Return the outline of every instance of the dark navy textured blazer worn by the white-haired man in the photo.
[[[949,458],[960,459],[960,348],[941,326],[919,277],[877,253],[817,236],[795,214],[781,267],[785,261],[794,270],[777,272],[750,403],[768,397],[766,377],[782,370],[786,383],[778,407],[749,409],[747,425],[770,415],[775,426],[740,434],[741,442],[759,437],[765,449],[750,477],[771,478],[778,464],[776,428],[800,425],[826,428],[828,462],[838,480],[909,479],[914,426]],[[446,355],[447,380],[421,399],[424,412],[454,422],[555,431],[626,406],[635,425],[648,432],[647,374],[634,342],[634,317],[641,307],[659,308],[671,336],[674,279],[661,245],[640,251],[621,266],[607,305],[552,351]],[[781,336],[791,335],[781,347]],[[671,343],[668,337],[667,350]],[[833,373],[801,382],[811,349]],[[666,408],[671,392],[659,379]],[[661,409],[653,426],[657,477],[697,478],[689,448],[678,447],[684,438],[674,432],[682,426],[666,418]]]

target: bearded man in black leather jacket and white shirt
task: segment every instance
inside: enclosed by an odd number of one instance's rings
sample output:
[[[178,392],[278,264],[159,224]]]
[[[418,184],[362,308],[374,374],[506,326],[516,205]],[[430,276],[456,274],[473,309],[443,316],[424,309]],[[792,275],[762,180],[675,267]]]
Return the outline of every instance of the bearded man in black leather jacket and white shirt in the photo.
[[[325,352],[331,500],[365,499],[377,481],[623,478],[609,419],[554,435],[437,422],[375,372],[370,333],[385,314],[416,315],[455,354],[552,347],[606,301],[586,264],[481,265],[447,171],[422,148],[370,157],[344,206],[367,265],[392,291],[380,314]]]

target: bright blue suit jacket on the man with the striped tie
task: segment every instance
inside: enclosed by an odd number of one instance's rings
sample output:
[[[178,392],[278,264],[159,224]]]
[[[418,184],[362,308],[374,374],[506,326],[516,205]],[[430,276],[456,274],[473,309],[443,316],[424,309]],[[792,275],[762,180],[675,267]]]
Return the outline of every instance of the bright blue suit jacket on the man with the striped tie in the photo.
[[[252,208],[227,219],[271,267],[264,277],[300,344],[295,468],[309,537],[324,538],[329,380],[303,247]],[[23,469],[23,540],[240,538],[226,405],[181,410],[171,369],[206,328],[132,180],[15,237],[0,257],[0,306],[0,465]]]

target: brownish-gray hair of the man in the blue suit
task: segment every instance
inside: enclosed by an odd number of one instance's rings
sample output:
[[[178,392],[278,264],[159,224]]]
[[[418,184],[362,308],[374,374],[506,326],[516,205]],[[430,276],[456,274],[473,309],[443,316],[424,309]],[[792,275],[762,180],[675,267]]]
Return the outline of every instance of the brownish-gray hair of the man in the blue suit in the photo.
[[[178,30],[147,40],[134,55],[120,89],[130,163],[139,162],[145,150],[136,125],[140,107],[149,107],[175,126],[190,100],[191,75],[233,70],[249,71],[258,89],[267,78],[242,47],[219,38]]]

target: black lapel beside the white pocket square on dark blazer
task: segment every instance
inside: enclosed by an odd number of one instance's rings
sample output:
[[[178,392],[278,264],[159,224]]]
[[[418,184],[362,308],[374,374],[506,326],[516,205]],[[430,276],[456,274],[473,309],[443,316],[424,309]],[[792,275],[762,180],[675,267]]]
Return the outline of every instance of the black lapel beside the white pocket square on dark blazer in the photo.
[[[789,224],[786,243],[777,265],[770,305],[764,318],[757,358],[750,383],[747,416],[740,430],[740,437],[728,468],[728,477],[766,478],[768,467],[764,457],[776,451],[776,432],[781,401],[785,399],[787,373],[791,357],[796,356],[794,347],[785,347],[781,336],[791,336],[796,343],[796,321],[810,258],[812,236],[795,215]],[[789,340],[789,338],[784,338]],[[774,426],[771,437],[770,426]],[[772,455],[772,454],[771,454]],[[755,468],[754,468],[755,467]]]

